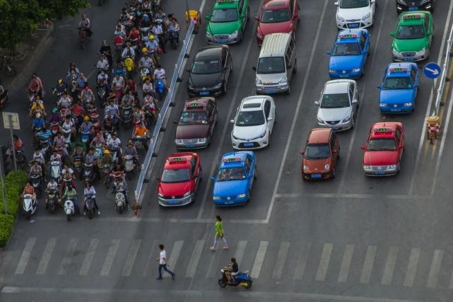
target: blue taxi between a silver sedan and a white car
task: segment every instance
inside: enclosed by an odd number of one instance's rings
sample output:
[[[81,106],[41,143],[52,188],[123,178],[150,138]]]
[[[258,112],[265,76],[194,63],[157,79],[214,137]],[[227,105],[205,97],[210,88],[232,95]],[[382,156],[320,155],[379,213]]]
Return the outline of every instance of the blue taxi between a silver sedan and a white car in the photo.
[[[358,79],[365,72],[370,34],[368,30],[341,30],[330,56],[329,76],[334,79]]]

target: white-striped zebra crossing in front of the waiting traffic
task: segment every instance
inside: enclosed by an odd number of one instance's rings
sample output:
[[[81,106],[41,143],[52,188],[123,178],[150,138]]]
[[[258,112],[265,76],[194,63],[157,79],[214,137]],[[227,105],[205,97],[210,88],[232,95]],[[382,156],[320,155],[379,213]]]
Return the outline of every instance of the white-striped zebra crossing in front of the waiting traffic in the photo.
[[[155,274],[159,243],[157,239],[28,238],[22,250],[16,250],[18,257],[11,262],[10,271],[37,277],[69,273],[150,277]],[[168,262],[185,278],[216,277],[218,269],[234,256],[254,279],[453,289],[453,260],[444,257],[448,251],[439,249],[266,240],[237,240],[230,250],[216,252],[208,250],[205,240],[175,240],[165,245]],[[99,267],[93,266],[95,257],[102,260]],[[50,263],[54,269],[49,269]]]

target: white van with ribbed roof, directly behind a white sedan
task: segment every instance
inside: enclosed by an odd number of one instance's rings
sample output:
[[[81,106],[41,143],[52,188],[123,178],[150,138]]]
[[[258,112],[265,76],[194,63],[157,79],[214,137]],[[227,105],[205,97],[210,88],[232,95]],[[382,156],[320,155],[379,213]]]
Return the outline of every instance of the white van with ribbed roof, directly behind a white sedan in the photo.
[[[289,33],[272,33],[264,37],[257,66],[257,93],[290,93],[289,82],[298,70],[295,42]]]

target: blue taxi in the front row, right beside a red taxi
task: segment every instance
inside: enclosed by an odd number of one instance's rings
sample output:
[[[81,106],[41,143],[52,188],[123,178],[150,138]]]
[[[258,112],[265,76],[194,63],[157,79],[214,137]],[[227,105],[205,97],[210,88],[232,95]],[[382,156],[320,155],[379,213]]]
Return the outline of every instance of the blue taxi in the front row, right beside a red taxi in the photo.
[[[252,185],[257,178],[257,163],[252,151],[223,154],[214,182],[213,203],[228,207],[245,204],[250,200]]]

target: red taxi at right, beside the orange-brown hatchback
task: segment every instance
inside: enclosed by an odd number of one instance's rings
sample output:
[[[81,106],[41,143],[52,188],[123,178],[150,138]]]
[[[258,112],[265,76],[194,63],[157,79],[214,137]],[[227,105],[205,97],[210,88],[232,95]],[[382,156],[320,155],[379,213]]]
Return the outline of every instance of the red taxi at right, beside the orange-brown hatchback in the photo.
[[[367,143],[362,146],[365,175],[385,176],[399,172],[404,151],[404,127],[401,122],[372,124]]]

